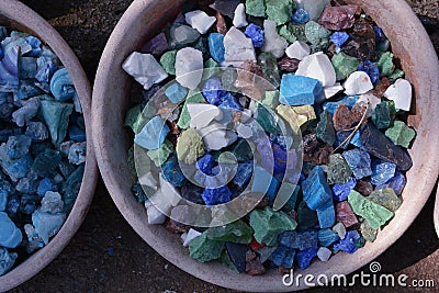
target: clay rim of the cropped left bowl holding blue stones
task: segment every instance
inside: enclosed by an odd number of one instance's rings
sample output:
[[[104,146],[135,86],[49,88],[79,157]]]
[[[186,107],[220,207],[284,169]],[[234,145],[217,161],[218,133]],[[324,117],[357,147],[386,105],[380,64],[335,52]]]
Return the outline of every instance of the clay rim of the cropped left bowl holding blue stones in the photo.
[[[86,171],[75,206],[63,228],[43,249],[9,273],[0,277],[0,292],[8,291],[38,273],[67,246],[86,217],[98,181],[98,165],[91,139],[91,87],[74,52],[63,37],[43,18],[15,0],[0,1],[0,25],[38,36],[59,57],[67,68],[81,101],[87,132]]]

